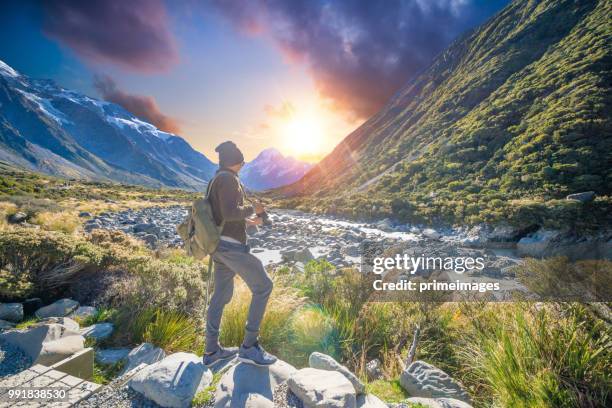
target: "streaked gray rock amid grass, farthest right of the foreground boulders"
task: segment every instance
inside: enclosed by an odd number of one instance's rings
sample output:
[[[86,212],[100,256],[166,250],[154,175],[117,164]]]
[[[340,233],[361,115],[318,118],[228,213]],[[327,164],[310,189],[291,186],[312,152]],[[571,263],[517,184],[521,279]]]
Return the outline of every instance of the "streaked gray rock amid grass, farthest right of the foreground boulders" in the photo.
[[[470,402],[468,393],[439,368],[424,361],[415,361],[402,372],[401,386],[414,397],[455,398]]]

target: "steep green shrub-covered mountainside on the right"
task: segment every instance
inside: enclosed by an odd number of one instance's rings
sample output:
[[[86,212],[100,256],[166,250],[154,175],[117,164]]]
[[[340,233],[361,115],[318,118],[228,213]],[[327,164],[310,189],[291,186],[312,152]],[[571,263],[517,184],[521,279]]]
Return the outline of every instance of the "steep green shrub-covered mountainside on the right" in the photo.
[[[571,223],[590,210],[561,199],[587,190],[610,209],[610,15],[605,0],[512,2],[279,192],[427,223]]]

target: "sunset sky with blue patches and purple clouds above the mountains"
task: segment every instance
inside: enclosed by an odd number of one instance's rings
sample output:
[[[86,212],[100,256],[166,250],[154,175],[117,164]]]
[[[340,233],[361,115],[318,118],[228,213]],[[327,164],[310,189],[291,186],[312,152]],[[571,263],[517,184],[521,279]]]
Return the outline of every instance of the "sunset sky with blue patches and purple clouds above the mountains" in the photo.
[[[508,0],[4,0],[0,59],[216,161],[316,162]]]

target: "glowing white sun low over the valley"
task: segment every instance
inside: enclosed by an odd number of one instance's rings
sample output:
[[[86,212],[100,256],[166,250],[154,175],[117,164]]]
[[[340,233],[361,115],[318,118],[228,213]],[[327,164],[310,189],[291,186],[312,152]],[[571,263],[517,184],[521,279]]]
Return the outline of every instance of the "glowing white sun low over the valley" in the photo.
[[[314,115],[294,116],[284,126],[285,151],[295,157],[313,157],[323,153],[324,126]]]

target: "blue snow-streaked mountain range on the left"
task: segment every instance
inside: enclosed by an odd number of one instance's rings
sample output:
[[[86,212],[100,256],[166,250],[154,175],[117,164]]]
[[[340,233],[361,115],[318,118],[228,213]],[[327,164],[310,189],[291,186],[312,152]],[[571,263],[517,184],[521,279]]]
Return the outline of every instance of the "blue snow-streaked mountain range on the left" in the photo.
[[[202,189],[216,165],[121,106],[0,61],[0,160],[72,178]]]

